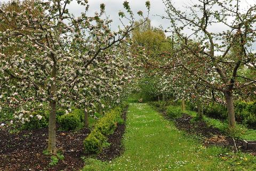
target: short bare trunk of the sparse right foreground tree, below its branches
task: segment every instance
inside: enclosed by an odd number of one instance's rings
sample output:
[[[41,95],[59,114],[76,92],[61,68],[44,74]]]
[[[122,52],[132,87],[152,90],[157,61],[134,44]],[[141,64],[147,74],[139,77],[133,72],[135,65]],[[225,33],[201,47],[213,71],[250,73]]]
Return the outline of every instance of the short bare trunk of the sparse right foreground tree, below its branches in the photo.
[[[236,119],[235,119],[233,94],[231,91],[225,92],[225,99],[226,99],[227,110],[228,110],[228,125],[229,127],[235,127]]]

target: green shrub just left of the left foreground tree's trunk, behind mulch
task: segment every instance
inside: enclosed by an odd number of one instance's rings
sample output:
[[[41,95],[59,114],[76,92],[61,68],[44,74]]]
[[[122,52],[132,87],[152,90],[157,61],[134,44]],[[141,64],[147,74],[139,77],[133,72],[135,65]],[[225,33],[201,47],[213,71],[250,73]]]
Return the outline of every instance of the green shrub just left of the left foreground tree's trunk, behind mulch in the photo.
[[[42,118],[41,118],[42,117]],[[22,129],[38,129],[47,127],[48,121],[44,111],[34,111],[28,116],[29,121],[25,121],[22,125]]]

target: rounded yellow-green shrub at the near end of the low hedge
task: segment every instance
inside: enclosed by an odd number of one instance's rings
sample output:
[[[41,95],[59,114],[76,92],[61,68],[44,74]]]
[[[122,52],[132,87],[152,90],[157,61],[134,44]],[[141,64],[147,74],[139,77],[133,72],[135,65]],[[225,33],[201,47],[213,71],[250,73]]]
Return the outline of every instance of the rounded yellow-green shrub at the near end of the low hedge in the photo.
[[[107,138],[97,130],[93,130],[83,143],[85,153],[98,153],[109,145]]]

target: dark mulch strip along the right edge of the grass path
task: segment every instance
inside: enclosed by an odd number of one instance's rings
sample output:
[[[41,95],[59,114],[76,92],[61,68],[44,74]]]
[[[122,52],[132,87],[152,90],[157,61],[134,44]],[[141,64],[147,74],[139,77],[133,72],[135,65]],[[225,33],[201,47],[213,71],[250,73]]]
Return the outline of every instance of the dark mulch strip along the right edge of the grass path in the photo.
[[[191,116],[183,114],[182,117],[177,118],[174,121],[178,129],[185,131],[186,133],[202,137],[203,144],[205,146],[223,146],[225,148],[230,148],[233,151],[236,151],[237,148],[238,150],[241,149],[244,152],[256,154],[256,150],[244,150],[242,140],[233,139],[233,137],[223,135],[218,128],[208,126],[203,120],[191,122],[191,119]]]

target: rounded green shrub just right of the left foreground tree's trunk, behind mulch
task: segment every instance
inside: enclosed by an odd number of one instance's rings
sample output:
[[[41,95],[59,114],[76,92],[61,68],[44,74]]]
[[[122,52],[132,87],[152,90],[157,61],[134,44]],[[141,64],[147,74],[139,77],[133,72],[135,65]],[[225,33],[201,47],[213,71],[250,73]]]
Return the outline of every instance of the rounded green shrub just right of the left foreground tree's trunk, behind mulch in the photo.
[[[81,119],[76,113],[68,113],[59,117],[59,124],[61,129],[66,131],[74,130],[81,126]]]

